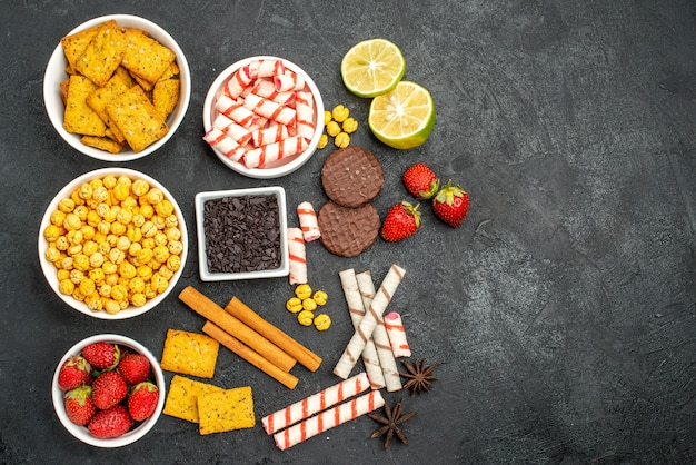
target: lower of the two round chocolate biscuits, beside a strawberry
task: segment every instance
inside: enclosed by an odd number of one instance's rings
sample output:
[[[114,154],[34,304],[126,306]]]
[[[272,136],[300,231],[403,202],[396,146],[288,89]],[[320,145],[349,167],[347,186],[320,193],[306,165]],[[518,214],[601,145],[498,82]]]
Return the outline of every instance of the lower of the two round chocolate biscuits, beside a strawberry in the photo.
[[[367,250],[377,240],[380,225],[372,204],[348,208],[332,200],[324,204],[317,222],[324,247],[340,257],[355,257]]]

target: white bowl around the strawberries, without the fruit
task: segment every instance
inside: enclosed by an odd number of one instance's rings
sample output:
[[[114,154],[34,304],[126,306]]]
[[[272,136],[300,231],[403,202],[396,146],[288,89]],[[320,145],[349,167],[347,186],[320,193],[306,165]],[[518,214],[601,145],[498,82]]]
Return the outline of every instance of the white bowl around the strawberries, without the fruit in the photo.
[[[143,354],[146,357],[148,357],[151,367],[150,378],[153,379],[155,385],[157,385],[159,389],[159,398],[152,416],[137,425],[137,427],[132,428],[125,435],[110,439],[97,438],[89,433],[87,426],[76,425],[68,418],[68,415],[66,413],[66,403],[63,398],[64,393],[58,386],[58,373],[60,372],[60,367],[63,365],[63,363],[70,356],[80,354],[82,349],[88,345],[100,340],[128,346],[135,352]],[[155,358],[152,353],[150,353],[150,350],[148,350],[142,344],[126,336],[119,336],[116,334],[100,334],[80,340],[74,346],[72,346],[66,353],[66,355],[63,355],[63,357],[58,363],[58,366],[56,367],[56,372],[53,374],[53,382],[51,384],[51,397],[53,399],[53,408],[56,409],[58,419],[60,419],[60,423],[62,423],[66,429],[68,429],[68,432],[70,432],[70,434],[72,434],[74,437],[82,441],[83,443],[91,444],[92,446],[97,447],[121,447],[135,443],[136,441],[145,436],[150,429],[152,429],[152,426],[155,426],[155,424],[159,419],[162,413],[162,408],[165,407],[165,397],[167,394],[166,388],[167,387],[165,385],[165,375],[162,373],[162,368],[159,366],[158,359]]]

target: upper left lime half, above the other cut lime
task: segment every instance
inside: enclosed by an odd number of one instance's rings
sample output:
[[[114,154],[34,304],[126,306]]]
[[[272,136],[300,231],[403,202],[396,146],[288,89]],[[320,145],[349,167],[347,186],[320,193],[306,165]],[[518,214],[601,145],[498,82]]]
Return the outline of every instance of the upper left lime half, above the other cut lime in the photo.
[[[344,85],[358,97],[376,97],[390,91],[405,72],[406,60],[401,50],[386,39],[358,42],[340,63]]]

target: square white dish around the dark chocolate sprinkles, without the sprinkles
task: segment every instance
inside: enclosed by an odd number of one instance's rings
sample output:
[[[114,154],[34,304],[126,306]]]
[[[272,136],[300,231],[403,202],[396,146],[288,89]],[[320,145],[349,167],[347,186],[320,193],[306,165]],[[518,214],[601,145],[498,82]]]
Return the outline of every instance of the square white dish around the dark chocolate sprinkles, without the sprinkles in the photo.
[[[206,251],[206,228],[205,228],[205,206],[208,200],[221,199],[226,197],[243,196],[275,196],[278,201],[278,215],[280,227],[280,266],[278,268],[258,271],[239,273],[213,273],[208,268],[208,256]],[[288,276],[290,273],[290,258],[288,253],[288,218],[285,189],[279,186],[258,187],[250,189],[216,190],[209,192],[198,192],[196,195],[196,228],[198,233],[198,268],[200,279],[203,281],[222,281],[238,279],[275,278]]]

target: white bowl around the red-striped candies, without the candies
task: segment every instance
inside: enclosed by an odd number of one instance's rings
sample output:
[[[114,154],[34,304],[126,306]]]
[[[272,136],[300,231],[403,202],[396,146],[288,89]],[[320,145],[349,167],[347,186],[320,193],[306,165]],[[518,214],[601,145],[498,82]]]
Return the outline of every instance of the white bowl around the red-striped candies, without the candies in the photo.
[[[229,78],[239,68],[257,60],[281,60],[287,69],[297,73],[301,73],[304,76],[306,89],[309,89],[311,91],[315,102],[315,135],[309,141],[309,146],[307,147],[307,149],[301,154],[286,157],[275,162],[270,162],[264,168],[247,168],[243,164],[239,161],[232,161],[215,147],[212,147],[212,151],[227,167],[233,169],[241,175],[257,179],[272,179],[289,175],[292,171],[299,169],[302,165],[305,165],[317,150],[319,139],[321,138],[321,133],[324,132],[324,100],[321,99],[321,93],[319,92],[317,85],[311,80],[309,75],[307,75],[300,67],[284,58],[271,56],[249,57],[245,58],[243,60],[239,60],[233,65],[230,65],[227,69],[220,72],[220,75],[216,78],[216,80],[210,86],[210,89],[208,90],[206,100],[203,102],[203,129],[206,130],[206,132],[208,132],[212,127],[212,121],[219,113],[218,110],[215,109],[215,102],[222,93],[225,85],[229,80]]]

